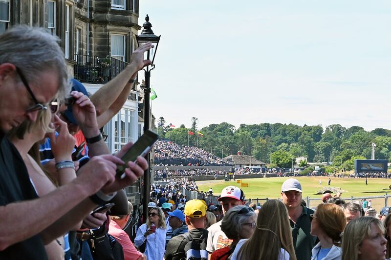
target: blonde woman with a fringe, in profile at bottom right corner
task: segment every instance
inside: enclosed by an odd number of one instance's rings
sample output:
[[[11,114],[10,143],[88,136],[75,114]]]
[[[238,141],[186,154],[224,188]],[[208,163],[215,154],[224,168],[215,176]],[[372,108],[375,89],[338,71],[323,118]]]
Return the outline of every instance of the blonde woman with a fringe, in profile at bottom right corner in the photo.
[[[342,260],[384,260],[387,240],[380,220],[361,217],[351,220],[342,237]]]

